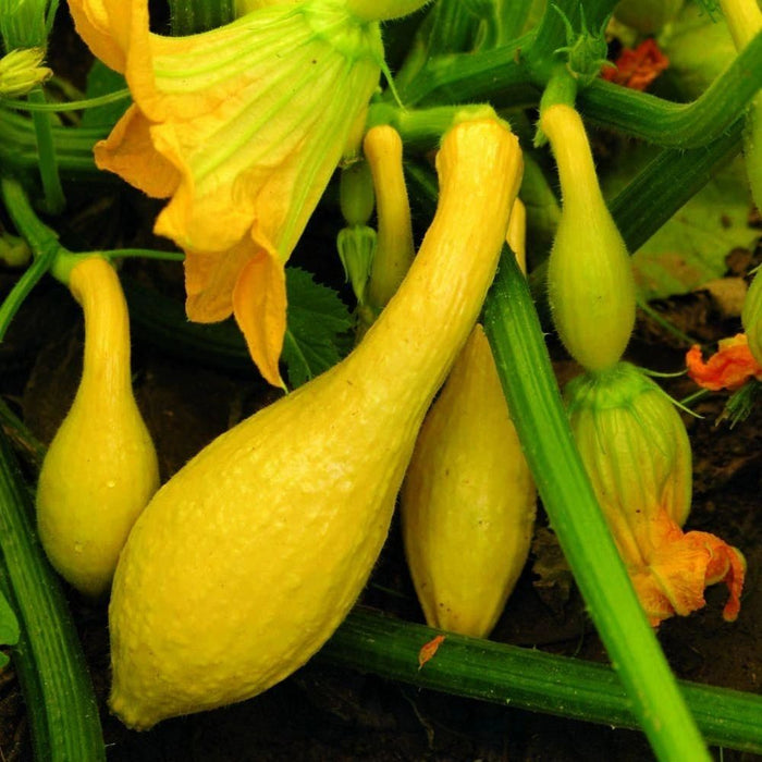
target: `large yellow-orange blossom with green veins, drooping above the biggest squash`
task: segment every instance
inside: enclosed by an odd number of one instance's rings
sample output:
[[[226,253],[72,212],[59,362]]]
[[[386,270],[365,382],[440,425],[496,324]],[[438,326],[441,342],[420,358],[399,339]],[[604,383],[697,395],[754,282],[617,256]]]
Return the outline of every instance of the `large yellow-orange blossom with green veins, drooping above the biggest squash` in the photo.
[[[358,149],[383,61],[378,22],[340,0],[260,2],[220,28],[162,37],[147,0],[70,9],[134,100],[96,163],[170,199],[155,232],[186,254],[188,318],[232,312],[262,376],[282,385],[284,265],[342,156]]]

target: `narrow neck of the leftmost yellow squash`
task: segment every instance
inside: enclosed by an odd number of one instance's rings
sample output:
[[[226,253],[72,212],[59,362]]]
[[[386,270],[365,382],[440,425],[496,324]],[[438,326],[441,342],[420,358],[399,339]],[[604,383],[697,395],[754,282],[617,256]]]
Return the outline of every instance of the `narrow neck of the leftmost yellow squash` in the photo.
[[[78,394],[113,397],[132,388],[130,319],[114,269],[91,257],[71,273],[69,287],[85,315],[85,356]]]

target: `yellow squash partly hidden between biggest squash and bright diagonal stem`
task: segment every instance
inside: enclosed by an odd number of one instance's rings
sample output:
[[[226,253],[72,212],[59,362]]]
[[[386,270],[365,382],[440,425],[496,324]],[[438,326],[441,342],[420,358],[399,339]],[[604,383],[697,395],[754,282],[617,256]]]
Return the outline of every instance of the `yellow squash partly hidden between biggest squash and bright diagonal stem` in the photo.
[[[527,561],[537,493],[481,325],[426,417],[401,499],[427,623],[489,635]]]

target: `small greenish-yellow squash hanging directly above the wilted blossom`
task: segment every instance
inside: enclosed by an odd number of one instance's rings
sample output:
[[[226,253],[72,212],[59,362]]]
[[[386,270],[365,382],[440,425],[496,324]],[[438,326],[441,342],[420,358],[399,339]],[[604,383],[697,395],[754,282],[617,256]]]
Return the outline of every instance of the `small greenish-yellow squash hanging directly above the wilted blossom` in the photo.
[[[569,354],[590,371],[622,357],[635,324],[629,255],[606,208],[579,114],[548,107],[540,127],[555,155],[563,206],[548,262],[553,322]]]

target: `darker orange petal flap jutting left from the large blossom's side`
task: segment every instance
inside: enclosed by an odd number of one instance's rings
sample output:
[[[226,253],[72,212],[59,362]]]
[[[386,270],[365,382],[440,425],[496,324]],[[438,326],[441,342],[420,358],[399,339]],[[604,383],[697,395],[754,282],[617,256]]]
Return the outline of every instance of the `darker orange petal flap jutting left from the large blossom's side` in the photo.
[[[180,183],[180,173],[155,148],[150,122],[134,103],[116,122],[111,135],[95,147],[96,164],[115,172],[153,198],[168,198]]]

